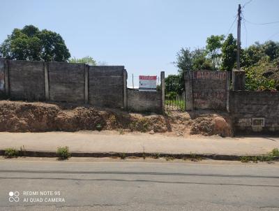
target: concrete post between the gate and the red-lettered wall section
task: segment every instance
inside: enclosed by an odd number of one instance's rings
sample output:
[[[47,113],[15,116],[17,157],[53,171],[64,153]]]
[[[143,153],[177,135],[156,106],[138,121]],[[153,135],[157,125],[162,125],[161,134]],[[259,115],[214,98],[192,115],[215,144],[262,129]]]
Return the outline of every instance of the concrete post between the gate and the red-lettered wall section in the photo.
[[[193,71],[184,72],[185,79],[185,108],[186,110],[193,110]]]

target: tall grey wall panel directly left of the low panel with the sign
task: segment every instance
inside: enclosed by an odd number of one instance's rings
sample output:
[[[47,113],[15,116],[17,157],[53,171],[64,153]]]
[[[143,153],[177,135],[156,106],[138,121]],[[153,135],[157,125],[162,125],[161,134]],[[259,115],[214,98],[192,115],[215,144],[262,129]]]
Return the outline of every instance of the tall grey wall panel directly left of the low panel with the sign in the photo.
[[[89,103],[123,107],[124,71],[124,66],[89,66]]]

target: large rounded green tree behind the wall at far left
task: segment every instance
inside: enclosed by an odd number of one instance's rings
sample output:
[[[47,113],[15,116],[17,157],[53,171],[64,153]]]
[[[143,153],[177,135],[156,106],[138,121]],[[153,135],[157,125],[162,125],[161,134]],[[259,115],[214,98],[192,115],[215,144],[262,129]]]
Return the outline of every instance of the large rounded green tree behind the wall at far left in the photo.
[[[63,38],[53,32],[40,31],[33,25],[14,29],[0,45],[0,55],[7,59],[29,61],[68,61],[70,52]]]

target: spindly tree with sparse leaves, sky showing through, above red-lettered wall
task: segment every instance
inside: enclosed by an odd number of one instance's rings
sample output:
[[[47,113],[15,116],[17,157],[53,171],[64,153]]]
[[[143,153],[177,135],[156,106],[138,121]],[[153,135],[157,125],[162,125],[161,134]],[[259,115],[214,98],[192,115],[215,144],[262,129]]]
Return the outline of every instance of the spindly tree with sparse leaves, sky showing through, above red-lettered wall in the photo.
[[[222,48],[224,38],[224,35],[211,35],[206,39],[206,50],[209,54],[209,57],[211,57],[213,67],[216,70],[220,68],[220,60],[222,56],[220,49]]]

